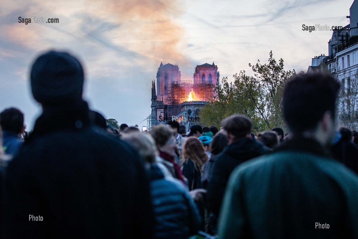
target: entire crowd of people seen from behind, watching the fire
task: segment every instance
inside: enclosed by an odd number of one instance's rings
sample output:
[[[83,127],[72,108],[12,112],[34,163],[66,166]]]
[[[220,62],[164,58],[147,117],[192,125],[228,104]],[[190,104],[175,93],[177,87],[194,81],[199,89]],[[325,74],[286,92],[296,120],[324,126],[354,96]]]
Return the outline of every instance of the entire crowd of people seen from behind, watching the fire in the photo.
[[[1,238],[358,238],[358,132],[338,128],[332,76],[289,80],[286,133],[257,135],[240,114],[113,128],[83,82],[75,57],[47,52],[30,75],[34,130],[0,113]]]

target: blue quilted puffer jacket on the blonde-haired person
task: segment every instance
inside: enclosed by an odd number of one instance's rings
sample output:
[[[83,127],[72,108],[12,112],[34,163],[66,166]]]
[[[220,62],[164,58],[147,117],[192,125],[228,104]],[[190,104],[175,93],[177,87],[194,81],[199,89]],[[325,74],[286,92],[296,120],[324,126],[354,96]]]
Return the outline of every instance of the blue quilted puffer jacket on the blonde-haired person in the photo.
[[[165,179],[156,165],[151,165],[149,177],[156,219],[155,238],[187,239],[197,233],[201,219],[183,183]]]

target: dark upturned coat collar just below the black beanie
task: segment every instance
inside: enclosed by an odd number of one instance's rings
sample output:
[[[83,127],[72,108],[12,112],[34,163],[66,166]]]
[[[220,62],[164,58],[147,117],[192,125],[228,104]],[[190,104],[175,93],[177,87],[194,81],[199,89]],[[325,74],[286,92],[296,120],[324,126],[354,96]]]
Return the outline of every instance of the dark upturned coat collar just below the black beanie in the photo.
[[[37,119],[31,137],[45,135],[58,130],[81,130],[91,125],[91,111],[84,101],[72,105],[46,108]]]

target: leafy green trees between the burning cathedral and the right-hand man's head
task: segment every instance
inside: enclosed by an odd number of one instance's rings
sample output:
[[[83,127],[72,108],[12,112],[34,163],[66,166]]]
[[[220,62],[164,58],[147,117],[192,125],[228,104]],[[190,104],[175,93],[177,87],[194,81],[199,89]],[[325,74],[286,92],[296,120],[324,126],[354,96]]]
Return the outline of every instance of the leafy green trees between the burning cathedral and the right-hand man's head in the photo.
[[[230,85],[227,77],[223,78],[222,84],[214,89],[216,97],[200,111],[203,125],[219,128],[223,118],[242,114],[253,121],[254,132],[286,128],[281,116],[281,95],[285,83],[296,75],[296,71],[284,70],[284,60],[281,58],[277,62],[272,51],[268,61],[264,65],[260,60],[255,65],[249,64],[254,76],[240,71],[233,75],[234,81]]]

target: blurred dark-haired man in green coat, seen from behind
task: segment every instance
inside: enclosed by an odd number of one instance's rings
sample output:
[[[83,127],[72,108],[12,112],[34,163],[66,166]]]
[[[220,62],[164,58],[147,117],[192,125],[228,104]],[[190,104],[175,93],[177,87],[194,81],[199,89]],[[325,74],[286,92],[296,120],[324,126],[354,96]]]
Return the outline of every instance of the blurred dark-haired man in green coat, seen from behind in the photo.
[[[358,177],[326,154],[338,90],[328,75],[286,83],[283,115],[292,138],[233,171],[219,238],[358,238]]]

